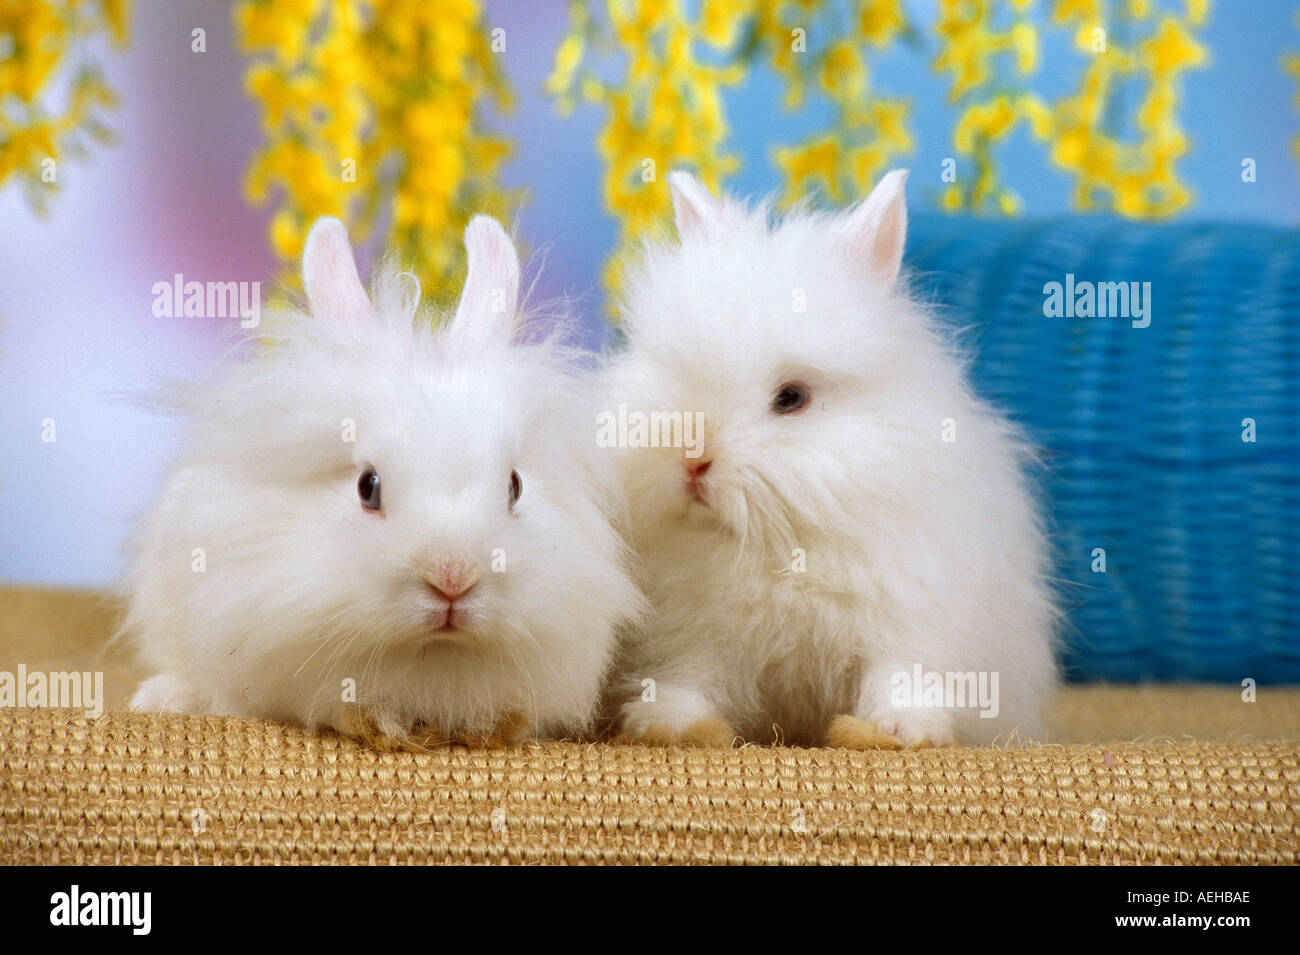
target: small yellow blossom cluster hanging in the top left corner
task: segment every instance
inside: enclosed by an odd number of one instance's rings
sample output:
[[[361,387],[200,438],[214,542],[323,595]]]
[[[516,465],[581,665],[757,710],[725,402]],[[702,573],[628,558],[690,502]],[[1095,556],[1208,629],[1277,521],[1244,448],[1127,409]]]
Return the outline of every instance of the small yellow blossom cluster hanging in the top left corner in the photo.
[[[0,186],[17,178],[38,213],[48,209],[65,156],[83,156],[87,139],[112,140],[103,110],[117,96],[84,48],[104,35],[125,47],[127,14],[127,0],[0,4]],[[51,90],[65,78],[66,103],[58,107]]]

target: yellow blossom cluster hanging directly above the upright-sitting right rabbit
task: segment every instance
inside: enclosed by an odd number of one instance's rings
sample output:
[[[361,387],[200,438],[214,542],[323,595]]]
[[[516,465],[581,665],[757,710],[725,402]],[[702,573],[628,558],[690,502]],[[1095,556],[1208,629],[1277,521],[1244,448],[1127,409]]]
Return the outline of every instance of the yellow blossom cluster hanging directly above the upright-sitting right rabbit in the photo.
[[[801,107],[809,88],[835,108],[828,130],[775,148],[785,201],[810,190],[835,200],[864,195],[893,157],[913,148],[906,104],[875,95],[864,53],[906,29],[900,0],[578,0],[546,90],[562,113],[578,101],[603,108],[597,146],[604,204],[627,244],[666,216],[666,172],[693,169],[716,190],[738,166],[727,149],[723,94],[764,61],[783,79],[786,108]],[[623,61],[618,79],[586,65],[602,55]],[[606,269],[611,290],[615,268]]]

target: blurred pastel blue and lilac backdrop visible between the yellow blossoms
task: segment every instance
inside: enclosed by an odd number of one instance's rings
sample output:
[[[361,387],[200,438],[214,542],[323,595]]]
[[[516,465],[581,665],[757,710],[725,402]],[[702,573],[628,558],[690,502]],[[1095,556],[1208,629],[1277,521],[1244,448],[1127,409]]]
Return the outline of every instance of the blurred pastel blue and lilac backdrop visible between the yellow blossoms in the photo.
[[[935,8],[907,3],[930,34]],[[1178,5],[1180,6],[1180,4]],[[580,109],[560,120],[541,91],[564,32],[567,1],[490,0],[489,25],[507,31],[504,65],[517,108],[495,125],[515,143],[506,185],[526,190],[517,216],[534,261],[545,259],[541,292],[576,298],[603,339],[599,268],[615,223],[601,207],[601,160],[593,146],[602,117]],[[1196,218],[1295,225],[1300,170],[1290,152],[1297,131],[1292,79],[1282,69],[1300,49],[1296,5],[1283,0],[1219,0],[1204,34],[1206,69],[1184,79],[1180,109],[1192,139],[1180,173],[1196,190]],[[190,30],[208,31],[208,52],[190,52]],[[231,48],[229,6],[199,0],[138,0],[131,45],[104,52],[121,110],[116,147],[60,166],[62,191],[39,220],[17,188],[0,192],[0,581],[105,585],[122,568],[122,541],[156,492],[174,447],[174,427],[133,407],[131,392],[164,376],[186,377],[225,346],[213,320],[155,318],[155,282],[173,273],[209,281],[266,281],[269,209],[250,209],[240,177],[259,147],[257,113],[242,88],[243,60]],[[916,152],[911,204],[932,205],[939,170],[952,155],[953,112],[944,81],[930,70],[931,45],[874,61],[876,87],[913,104]],[[1078,60],[1049,44],[1037,88],[1072,86]],[[775,81],[755,75],[729,95],[742,194],[777,188],[768,159],[775,143],[798,142],[826,116],[790,116]],[[1013,140],[1002,149],[1008,182],[1027,216],[1069,210],[1069,179],[1044,149]],[[1242,159],[1258,181],[1240,181]],[[44,418],[57,440],[42,443]]]

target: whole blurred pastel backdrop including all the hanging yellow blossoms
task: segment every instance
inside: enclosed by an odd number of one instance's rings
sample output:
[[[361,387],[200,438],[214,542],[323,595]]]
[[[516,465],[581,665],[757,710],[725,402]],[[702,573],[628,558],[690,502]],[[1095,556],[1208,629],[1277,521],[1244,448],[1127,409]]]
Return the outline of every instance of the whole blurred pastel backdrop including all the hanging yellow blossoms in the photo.
[[[491,210],[601,347],[610,257],[666,214],[673,166],[826,203],[909,166],[913,209],[963,221],[1294,226],[1296,12],[0,0],[0,581],[121,572],[176,440],[130,394],[237,325],[156,317],[156,282],[291,283],[333,213],[363,272],[394,246],[454,292],[460,230]]]

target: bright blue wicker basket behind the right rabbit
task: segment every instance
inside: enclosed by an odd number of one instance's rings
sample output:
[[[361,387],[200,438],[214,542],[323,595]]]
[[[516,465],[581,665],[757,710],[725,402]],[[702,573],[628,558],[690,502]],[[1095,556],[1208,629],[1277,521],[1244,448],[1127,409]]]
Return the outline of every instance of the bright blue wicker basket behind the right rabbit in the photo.
[[[907,264],[1046,451],[1069,676],[1300,682],[1300,231],[920,217]],[[1150,325],[1046,317],[1067,273]]]

